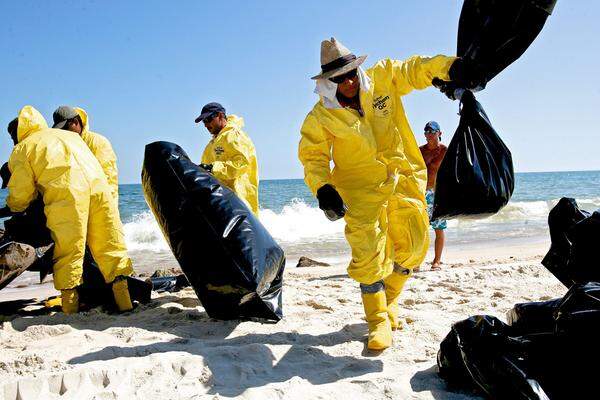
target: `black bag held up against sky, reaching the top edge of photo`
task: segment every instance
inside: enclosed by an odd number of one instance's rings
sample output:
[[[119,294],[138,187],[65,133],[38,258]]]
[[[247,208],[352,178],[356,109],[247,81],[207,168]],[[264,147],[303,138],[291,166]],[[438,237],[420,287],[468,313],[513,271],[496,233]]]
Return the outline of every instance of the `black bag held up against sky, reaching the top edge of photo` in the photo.
[[[544,27],[556,0],[465,0],[457,55],[473,75],[467,88],[483,88],[517,60]]]

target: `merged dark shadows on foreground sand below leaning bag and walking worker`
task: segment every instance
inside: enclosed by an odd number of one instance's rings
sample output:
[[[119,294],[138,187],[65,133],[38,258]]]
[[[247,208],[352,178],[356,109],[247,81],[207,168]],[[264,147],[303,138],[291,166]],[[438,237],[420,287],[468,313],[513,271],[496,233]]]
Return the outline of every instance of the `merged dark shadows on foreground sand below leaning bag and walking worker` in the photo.
[[[178,303],[178,304],[169,304]],[[182,305],[186,309],[180,307]],[[364,357],[333,356],[327,347],[352,341],[363,342],[366,324],[346,325],[337,332],[310,335],[277,331],[270,334],[245,334],[229,338],[242,321],[211,319],[195,297],[163,296],[132,313],[111,315],[94,309],[81,318],[62,313],[15,318],[14,329],[24,331],[33,325],[67,324],[79,330],[104,331],[109,328],[136,327],[147,331],[167,332],[176,336],[167,342],[141,346],[108,346],[99,351],[72,358],[70,364],[85,364],[118,357],[144,357],[156,353],[186,352],[199,355],[211,370],[210,394],[236,396],[246,389],[269,383],[284,382],[293,377],[314,385],[336,382],[383,370],[383,363]],[[135,314],[135,318],[129,318]],[[283,356],[276,356],[274,347]],[[284,347],[281,347],[284,346]],[[369,356],[368,352],[365,356]]]

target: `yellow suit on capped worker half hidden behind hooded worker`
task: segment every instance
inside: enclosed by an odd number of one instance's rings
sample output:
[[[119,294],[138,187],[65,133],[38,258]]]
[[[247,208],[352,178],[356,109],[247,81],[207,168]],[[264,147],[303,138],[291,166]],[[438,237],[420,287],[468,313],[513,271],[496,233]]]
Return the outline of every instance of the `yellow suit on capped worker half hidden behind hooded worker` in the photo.
[[[88,145],[96,159],[100,163],[111,193],[119,204],[119,171],[117,169],[117,156],[107,138],[99,133],[90,131],[90,123],[85,110],[75,107],[75,111],[81,117],[83,122],[83,132],[81,138]]]

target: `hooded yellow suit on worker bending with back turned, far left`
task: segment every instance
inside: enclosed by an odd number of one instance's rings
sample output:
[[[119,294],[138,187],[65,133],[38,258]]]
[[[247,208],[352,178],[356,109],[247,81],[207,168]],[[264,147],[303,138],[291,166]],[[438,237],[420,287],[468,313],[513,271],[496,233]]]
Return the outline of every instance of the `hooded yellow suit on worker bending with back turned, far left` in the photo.
[[[79,135],[48,128],[35,108],[25,106],[17,137],[8,161],[6,204],[21,212],[42,194],[55,246],[56,289],[82,283],[86,242],[107,283],[131,274],[116,204],[98,160]]]

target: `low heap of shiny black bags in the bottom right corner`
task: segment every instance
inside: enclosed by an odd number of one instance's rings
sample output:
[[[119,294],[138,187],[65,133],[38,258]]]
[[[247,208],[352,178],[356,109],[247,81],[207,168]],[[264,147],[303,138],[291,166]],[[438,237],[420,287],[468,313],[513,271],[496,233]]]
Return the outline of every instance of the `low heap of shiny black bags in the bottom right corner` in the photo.
[[[511,326],[489,316],[454,324],[440,345],[440,376],[494,399],[598,398],[600,282],[515,309]]]

